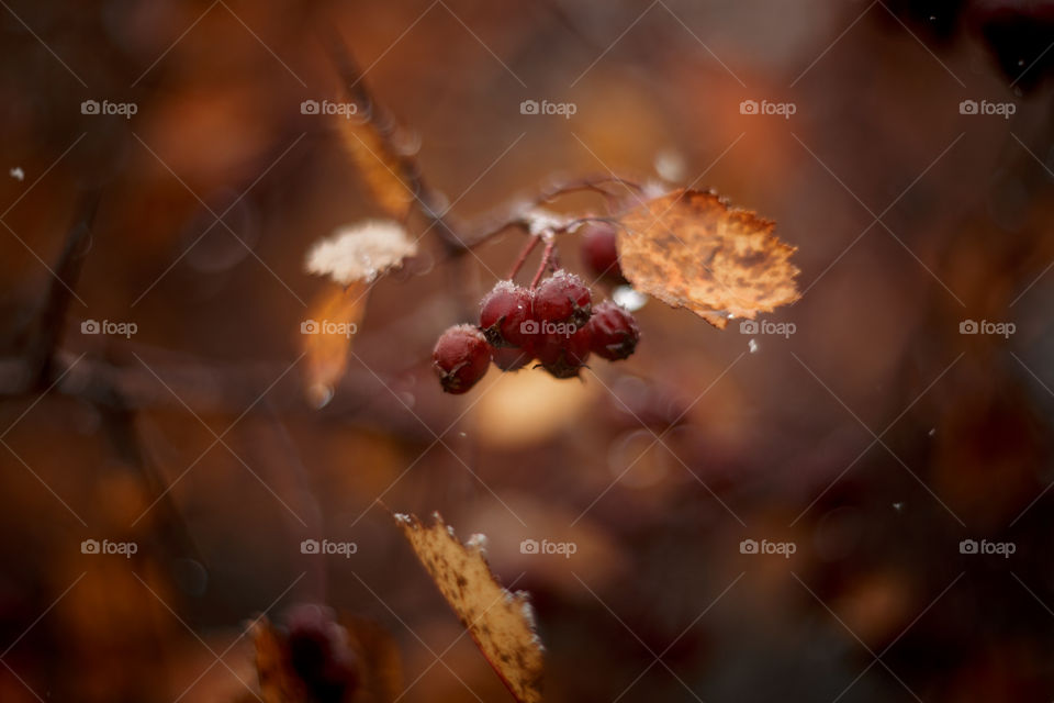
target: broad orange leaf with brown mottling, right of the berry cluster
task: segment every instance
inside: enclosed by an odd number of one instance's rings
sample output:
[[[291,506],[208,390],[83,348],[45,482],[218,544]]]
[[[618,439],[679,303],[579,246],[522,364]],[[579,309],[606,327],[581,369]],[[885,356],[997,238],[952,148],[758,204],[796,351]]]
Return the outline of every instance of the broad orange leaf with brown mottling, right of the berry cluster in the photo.
[[[635,288],[724,330],[798,299],[795,247],[775,223],[711,192],[676,190],[621,215],[618,256]]]

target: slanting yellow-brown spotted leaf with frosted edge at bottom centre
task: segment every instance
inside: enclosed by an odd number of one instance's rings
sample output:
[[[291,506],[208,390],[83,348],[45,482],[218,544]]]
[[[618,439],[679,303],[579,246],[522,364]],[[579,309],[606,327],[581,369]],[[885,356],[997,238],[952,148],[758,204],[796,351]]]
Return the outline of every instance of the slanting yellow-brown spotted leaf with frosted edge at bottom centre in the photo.
[[[534,611],[523,591],[511,593],[483,556],[484,537],[462,545],[438,513],[425,527],[413,515],[396,522],[458,620],[519,703],[541,701],[542,647]]]

